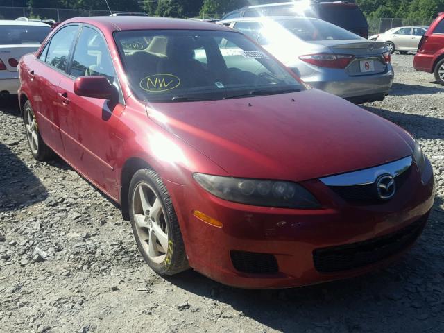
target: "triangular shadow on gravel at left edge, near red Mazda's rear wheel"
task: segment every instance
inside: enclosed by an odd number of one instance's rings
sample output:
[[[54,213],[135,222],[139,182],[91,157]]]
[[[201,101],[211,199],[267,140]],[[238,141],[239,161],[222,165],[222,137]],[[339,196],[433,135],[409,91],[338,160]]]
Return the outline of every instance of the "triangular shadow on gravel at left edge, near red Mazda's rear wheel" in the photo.
[[[0,212],[28,207],[48,197],[40,180],[2,143],[0,161]]]

